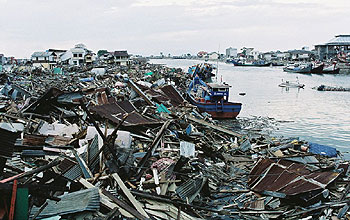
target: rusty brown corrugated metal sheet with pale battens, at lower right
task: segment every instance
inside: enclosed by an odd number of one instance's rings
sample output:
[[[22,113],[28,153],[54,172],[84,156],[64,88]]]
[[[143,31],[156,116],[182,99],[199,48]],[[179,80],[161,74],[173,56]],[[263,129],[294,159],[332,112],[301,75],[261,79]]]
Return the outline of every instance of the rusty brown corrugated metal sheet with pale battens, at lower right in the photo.
[[[324,189],[339,174],[311,172],[305,164],[286,160],[262,159],[252,169],[248,184],[256,192],[272,191],[292,196]]]

